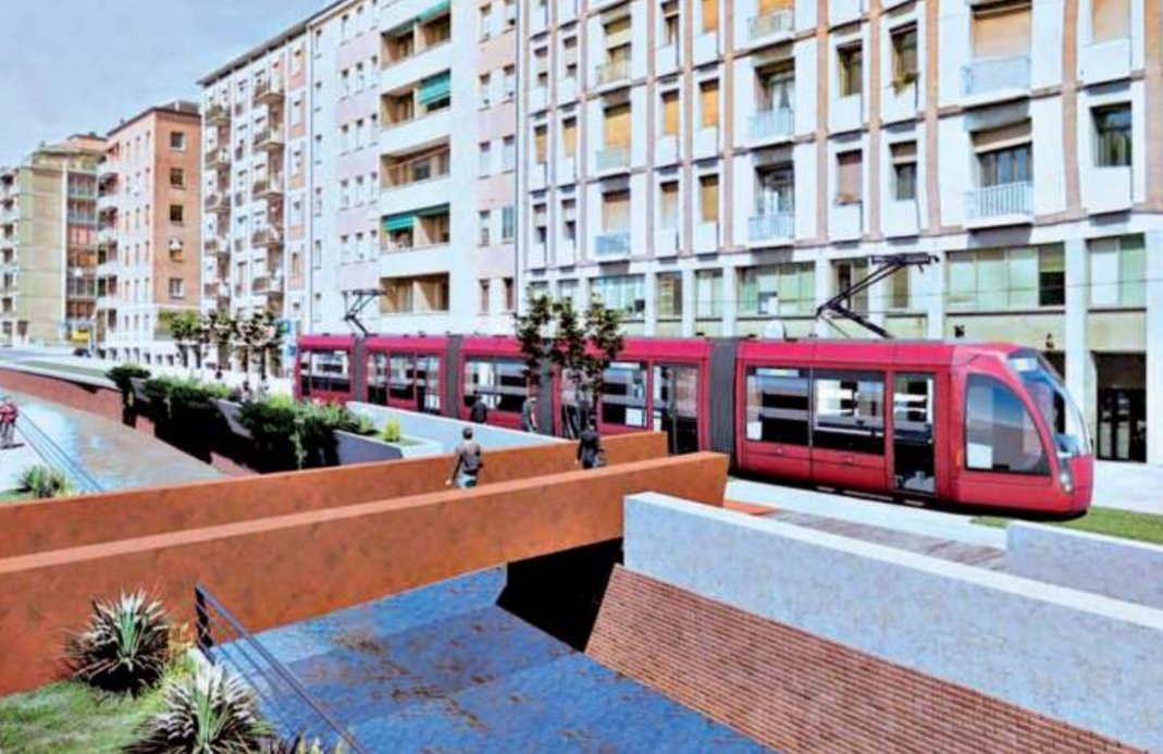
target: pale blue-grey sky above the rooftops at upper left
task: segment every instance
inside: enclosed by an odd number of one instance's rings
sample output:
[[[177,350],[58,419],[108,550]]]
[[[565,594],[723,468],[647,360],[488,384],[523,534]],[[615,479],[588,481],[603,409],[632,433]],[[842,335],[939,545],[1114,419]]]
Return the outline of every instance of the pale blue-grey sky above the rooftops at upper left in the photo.
[[[0,0],[0,165],[108,133],[330,0]]]

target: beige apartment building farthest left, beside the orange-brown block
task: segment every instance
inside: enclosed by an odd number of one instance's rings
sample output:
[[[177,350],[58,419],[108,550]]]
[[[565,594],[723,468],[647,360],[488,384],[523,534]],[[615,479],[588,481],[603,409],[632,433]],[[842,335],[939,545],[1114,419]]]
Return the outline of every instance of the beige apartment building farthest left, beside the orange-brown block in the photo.
[[[0,170],[0,343],[93,347],[104,150],[72,136]]]

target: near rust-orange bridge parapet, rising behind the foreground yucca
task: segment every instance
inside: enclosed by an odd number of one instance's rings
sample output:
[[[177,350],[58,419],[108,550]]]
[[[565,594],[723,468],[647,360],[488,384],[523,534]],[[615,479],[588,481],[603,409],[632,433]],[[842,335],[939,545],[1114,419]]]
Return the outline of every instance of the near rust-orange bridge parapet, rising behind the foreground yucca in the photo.
[[[201,582],[263,631],[620,538],[628,495],[721,505],[727,463],[656,458],[2,560],[0,695],[60,677],[65,632],[84,624],[94,596],[145,588],[193,621]]]

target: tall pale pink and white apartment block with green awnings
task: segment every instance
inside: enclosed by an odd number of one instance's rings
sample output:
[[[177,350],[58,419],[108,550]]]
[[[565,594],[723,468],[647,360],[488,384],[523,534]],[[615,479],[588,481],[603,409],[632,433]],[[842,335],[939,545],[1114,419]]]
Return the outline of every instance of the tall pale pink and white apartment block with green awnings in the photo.
[[[506,332],[515,15],[345,0],[204,79],[204,307],[348,332],[344,294],[378,291],[378,332]]]

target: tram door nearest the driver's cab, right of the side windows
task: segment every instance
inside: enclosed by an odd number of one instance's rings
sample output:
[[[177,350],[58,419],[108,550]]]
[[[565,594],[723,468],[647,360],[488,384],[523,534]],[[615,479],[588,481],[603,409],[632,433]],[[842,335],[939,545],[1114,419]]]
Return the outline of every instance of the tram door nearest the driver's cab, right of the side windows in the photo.
[[[893,489],[936,493],[933,375],[897,375],[892,383]]]

